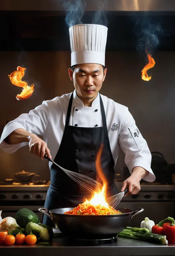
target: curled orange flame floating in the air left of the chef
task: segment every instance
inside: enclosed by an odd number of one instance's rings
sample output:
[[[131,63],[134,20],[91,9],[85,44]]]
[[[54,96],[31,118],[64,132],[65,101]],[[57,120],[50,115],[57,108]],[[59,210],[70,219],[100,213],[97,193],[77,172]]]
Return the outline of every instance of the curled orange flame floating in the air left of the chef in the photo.
[[[32,83],[31,87],[28,86],[27,82],[21,81],[23,76],[25,75],[26,68],[21,68],[20,66],[17,67],[17,71],[14,71],[8,77],[13,85],[23,87],[23,91],[20,94],[17,94],[17,100],[25,100],[28,99],[32,93],[34,92],[34,84]]]

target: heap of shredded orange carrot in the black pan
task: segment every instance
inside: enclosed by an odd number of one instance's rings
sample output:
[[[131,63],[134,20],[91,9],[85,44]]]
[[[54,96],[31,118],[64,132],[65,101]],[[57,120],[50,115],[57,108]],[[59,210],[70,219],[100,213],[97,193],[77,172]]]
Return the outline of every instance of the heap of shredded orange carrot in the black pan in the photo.
[[[120,211],[114,209],[110,205],[104,207],[102,205],[91,205],[88,203],[79,204],[77,207],[73,208],[71,211],[65,212],[64,214],[69,215],[113,215],[121,214]]]

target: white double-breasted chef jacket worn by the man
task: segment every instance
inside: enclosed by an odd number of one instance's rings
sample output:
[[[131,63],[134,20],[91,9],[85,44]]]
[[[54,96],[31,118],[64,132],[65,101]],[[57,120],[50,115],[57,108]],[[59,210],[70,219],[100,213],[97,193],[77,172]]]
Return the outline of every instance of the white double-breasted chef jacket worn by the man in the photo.
[[[101,94],[100,94],[101,95]],[[64,94],[52,100],[42,102],[28,114],[24,113],[15,120],[9,122],[3,130],[0,147],[7,153],[13,153],[20,147],[28,145],[28,142],[19,144],[7,144],[4,139],[14,130],[23,128],[30,133],[40,135],[51,152],[54,159],[61,144],[65,128],[66,114],[71,93]],[[155,176],[151,170],[151,153],[147,142],[141,135],[133,116],[126,106],[114,102],[112,99],[101,95],[106,114],[107,130],[109,135],[111,152],[116,164],[119,154],[119,144],[125,154],[125,163],[132,173],[135,166],[143,167],[149,173],[143,180],[152,182]],[[78,111],[76,110],[78,109]],[[95,111],[96,110],[96,111]],[[84,107],[82,100],[73,92],[73,102],[69,125],[78,127],[103,126],[100,110],[99,93],[92,102],[92,107]],[[49,162],[51,168],[52,163]]]

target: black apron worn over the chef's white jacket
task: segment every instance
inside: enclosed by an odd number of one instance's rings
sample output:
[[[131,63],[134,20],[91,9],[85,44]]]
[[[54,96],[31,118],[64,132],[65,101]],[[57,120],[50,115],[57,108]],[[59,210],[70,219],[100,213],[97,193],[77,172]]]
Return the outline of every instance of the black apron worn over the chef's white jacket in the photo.
[[[106,116],[102,98],[100,107],[102,112],[102,127],[69,126],[71,116],[73,93],[69,100],[68,112],[61,145],[54,161],[66,170],[86,175],[96,180],[96,154],[103,144],[101,165],[108,181],[107,197],[118,193],[115,184],[114,160],[110,149],[106,125]],[[100,111],[96,109],[95,111]],[[75,111],[78,111],[75,107]],[[97,126],[97,125],[96,125]],[[59,132],[59,131],[58,131]],[[51,184],[49,186],[44,207],[48,210],[66,207],[76,207],[84,200],[90,199],[89,190],[72,180],[63,170],[56,165],[51,166]],[[51,219],[44,215],[43,223],[54,226]]]

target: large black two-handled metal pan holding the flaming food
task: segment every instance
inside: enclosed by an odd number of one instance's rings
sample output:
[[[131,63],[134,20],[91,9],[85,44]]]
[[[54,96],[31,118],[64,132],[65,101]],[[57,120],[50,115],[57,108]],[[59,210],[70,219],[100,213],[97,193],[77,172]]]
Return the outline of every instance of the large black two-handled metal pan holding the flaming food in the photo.
[[[39,212],[47,215],[65,236],[101,236],[114,235],[129,226],[134,215],[144,211],[143,208],[134,211],[126,208],[117,208],[122,214],[116,215],[68,215],[64,214],[73,208],[60,208],[48,211],[40,208]]]

